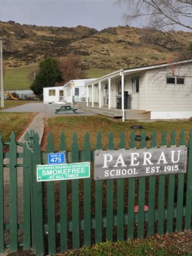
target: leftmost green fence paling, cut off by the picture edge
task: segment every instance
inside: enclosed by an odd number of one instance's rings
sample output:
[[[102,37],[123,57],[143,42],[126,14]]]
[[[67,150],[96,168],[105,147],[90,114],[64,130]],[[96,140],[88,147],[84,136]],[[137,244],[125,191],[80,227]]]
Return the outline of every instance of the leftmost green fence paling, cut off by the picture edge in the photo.
[[[0,133],[0,253],[4,252],[4,214],[3,214],[3,143]]]

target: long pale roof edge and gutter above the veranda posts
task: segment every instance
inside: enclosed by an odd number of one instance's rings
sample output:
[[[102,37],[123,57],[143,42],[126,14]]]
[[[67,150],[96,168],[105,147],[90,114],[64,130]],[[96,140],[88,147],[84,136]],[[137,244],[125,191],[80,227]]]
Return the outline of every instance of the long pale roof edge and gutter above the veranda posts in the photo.
[[[123,74],[123,73],[126,74],[126,73],[143,71],[143,70],[148,70],[148,69],[157,69],[157,68],[160,68],[160,67],[167,67],[167,66],[171,66],[171,65],[185,64],[185,63],[189,63],[189,62],[192,62],[192,59],[190,59],[190,60],[181,60],[181,61],[178,61],[178,62],[170,62],[170,63],[164,62],[164,63],[152,64],[152,65],[148,65],[148,66],[140,66],[140,67],[131,67],[131,68],[126,68],[126,69],[120,69],[120,70],[117,70],[115,72],[112,72],[110,74],[107,74],[105,76],[101,76],[101,77],[95,79],[94,83],[99,82],[101,80],[105,80],[107,78],[119,76],[120,73],[121,74]],[[91,82],[86,83],[86,85],[91,85]]]

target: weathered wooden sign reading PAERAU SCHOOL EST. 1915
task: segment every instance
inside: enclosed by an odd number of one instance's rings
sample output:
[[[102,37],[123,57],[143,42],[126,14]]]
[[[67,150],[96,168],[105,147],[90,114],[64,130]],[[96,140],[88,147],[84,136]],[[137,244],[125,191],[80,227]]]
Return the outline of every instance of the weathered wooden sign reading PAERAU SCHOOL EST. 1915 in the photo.
[[[186,172],[187,147],[96,150],[94,180]]]

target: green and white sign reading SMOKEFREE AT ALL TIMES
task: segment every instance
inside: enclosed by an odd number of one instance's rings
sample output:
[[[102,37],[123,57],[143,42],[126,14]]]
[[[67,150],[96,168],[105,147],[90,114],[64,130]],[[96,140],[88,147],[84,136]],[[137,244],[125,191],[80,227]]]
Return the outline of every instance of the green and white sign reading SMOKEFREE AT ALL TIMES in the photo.
[[[73,180],[89,177],[89,162],[37,165],[37,181]]]

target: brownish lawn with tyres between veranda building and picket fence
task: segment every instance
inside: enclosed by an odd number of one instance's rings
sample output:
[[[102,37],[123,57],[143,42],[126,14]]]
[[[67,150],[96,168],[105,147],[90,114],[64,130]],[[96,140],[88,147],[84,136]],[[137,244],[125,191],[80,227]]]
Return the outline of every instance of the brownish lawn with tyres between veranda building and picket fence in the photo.
[[[50,131],[54,138],[55,149],[57,149],[60,143],[60,134],[63,131],[66,137],[67,149],[71,148],[72,134],[77,133],[79,148],[83,148],[84,144],[84,133],[89,132],[91,148],[95,147],[96,144],[96,134],[100,131],[102,134],[103,147],[107,148],[108,134],[110,131],[114,134],[115,148],[118,148],[119,137],[121,131],[125,132],[126,136],[126,146],[129,147],[130,141],[130,125],[138,124],[142,125],[143,129],[146,131],[147,135],[150,137],[153,130],[157,133],[158,146],[160,146],[161,132],[167,132],[168,144],[171,138],[172,129],[175,130],[177,136],[177,144],[179,144],[180,132],[182,129],[185,130],[186,140],[189,139],[189,132],[192,129],[192,120],[177,120],[174,122],[169,121],[155,121],[155,122],[136,122],[136,121],[126,121],[112,119],[102,116],[68,116],[68,117],[51,117],[48,119],[47,132]],[[136,134],[141,134],[141,130],[136,130]],[[43,145],[45,146],[46,141],[43,140]],[[150,145],[150,140],[147,142],[147,146]],[[139,146],[139,144],[138,144]]]

